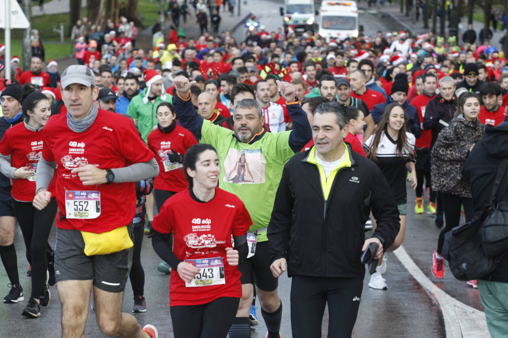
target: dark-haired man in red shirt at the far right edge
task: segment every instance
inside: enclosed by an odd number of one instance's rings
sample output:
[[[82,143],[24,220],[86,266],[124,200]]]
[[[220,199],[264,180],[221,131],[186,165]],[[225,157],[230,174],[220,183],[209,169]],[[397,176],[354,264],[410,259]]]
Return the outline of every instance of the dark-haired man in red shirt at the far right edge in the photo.
[[[496,126],[503,122],[504,107],[499,106],[499,98],[501,97],[501,86],[497,82],[485,83],[480,88],[482,95],[483,105],[480,107],[480,114],[478,119],[483,124],[490,124]]]

